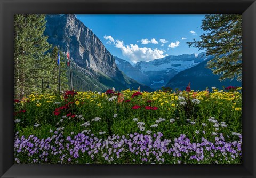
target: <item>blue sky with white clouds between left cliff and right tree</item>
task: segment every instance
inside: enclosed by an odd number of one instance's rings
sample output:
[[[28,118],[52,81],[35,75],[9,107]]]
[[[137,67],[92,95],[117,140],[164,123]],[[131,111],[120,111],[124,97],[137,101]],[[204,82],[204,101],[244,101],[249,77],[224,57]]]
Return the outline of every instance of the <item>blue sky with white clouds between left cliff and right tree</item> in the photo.
[[[76,15],[114,56],[132,64],[167,55],[199,54],[204,15]]]

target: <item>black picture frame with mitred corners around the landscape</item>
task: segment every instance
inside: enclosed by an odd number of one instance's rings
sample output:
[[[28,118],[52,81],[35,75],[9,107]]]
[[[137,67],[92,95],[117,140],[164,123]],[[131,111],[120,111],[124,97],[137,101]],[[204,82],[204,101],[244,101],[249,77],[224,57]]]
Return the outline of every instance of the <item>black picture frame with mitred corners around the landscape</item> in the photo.
[[[256,2],[0,0],[1,177],[256,177]],[[14,164],[14,14],[242,14],[242,164]]]

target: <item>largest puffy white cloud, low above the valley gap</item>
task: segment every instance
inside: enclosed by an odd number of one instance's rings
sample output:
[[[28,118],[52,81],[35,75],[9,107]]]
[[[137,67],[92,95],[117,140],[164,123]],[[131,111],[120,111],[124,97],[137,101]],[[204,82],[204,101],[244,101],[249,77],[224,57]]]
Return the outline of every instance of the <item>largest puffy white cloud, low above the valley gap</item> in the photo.
[[[110,38],[108,38],[108,40],[111,41]],[[157,48],[152,49],[147,47],[139,47],[137,44],[125,45],[123,41],[118,39],[115,40],[114,38],[113,41],[113,45],[115,45],[116,48],[119,48],[122,51],[122,54],[126,56],[126,58],[129,58],[133,63],[137,63],[139,61],[147,62],[167,56],[167,54],[164,55],[163,50],[159,50]]]

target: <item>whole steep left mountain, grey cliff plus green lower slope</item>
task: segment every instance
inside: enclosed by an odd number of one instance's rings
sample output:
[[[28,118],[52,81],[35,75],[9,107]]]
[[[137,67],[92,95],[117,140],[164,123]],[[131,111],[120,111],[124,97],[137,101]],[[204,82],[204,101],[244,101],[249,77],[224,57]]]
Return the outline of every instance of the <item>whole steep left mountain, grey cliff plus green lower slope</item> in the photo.
[[[46,15],[44,35],[48,42],[60,46],[63,52],[70,48],[73,61],[74,88],[79,90],[104,91],[115,87],[117,90],[141,86],[151,88],[128,78],[116,66],[115,58],[105,48],[100,39],[75,15]],[[76,85],[76,86],[75,86]]]

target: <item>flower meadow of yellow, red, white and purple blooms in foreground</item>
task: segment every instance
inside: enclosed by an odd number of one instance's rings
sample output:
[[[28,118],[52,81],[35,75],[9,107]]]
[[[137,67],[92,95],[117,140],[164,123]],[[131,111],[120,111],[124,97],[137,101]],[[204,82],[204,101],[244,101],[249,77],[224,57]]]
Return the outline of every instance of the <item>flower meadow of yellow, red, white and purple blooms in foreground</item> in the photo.
[[[241,87],[32,93],[14,109],[15,163],[241,163]]]

